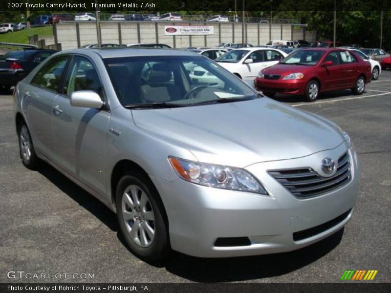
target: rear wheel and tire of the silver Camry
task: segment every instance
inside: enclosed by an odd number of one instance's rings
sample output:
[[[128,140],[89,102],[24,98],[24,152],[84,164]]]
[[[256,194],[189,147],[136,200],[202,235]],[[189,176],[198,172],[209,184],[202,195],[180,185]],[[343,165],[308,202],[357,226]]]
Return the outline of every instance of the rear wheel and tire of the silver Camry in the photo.
[[[18,140],[23,165],[31,170],[36,170],[39,167],[40,159],[35,153],[30,131],[24,121],[18,125]]]

